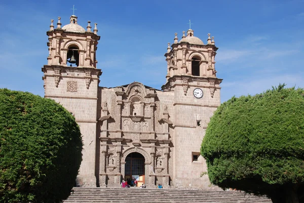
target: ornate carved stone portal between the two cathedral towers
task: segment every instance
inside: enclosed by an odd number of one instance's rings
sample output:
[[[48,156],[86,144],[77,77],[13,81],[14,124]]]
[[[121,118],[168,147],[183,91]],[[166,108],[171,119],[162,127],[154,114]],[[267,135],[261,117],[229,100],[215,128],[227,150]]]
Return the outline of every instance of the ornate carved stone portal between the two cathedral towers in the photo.
[[[107,111],[101,118],[109,118],[100,123],[101,187],[120,187],[123,179],[138,178],[139,184],[145,183],[147,187],[154,188],[158,180],[169,177],[168,144],[171,141],[168,124],[159,122],[159,115],[163,112],[159,112],[160,104],[156,97],[154,89],[132,83],[126,89],[118,87],[115,97],[108,101],[111,105],[102,106]],[[168,115],[167,108],[165,114]],[[155,132],[157,127],[158,136]],[[157,143],[156,137],[161,143]],[[162,182],[164,187],[170,187],[168,181],[168,184]]]

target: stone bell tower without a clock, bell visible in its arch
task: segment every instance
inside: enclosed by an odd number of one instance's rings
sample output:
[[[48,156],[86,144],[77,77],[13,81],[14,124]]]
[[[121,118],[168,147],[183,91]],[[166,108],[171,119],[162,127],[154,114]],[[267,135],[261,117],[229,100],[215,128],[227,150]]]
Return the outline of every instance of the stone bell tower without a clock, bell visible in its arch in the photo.
[[[62,104],[75,117],[84,143],[77,184],[95,187],[97,92],[102,73],[97,69],[96,50],[100,36],[97,23],[92,31],[90,21],[86,30],[75,15],[63,27],[60,20],[58,17],[56,28],[51,20],[47,31],[48,64],[42,68],[45,98]]]

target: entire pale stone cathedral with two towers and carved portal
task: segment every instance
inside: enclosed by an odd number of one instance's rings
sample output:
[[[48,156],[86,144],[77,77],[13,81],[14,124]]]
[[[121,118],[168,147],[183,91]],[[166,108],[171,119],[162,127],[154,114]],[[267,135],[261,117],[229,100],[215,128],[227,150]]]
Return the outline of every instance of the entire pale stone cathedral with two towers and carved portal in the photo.
[[[77,19],[72,15],[61,26],[59,17],[56,28],[51,20],[42,68],[45,98],[70,111],[83,135],[76,184],[120,187],[122,180],[136,178],[147,187],[207,187],[208,177],[200,177],[207,171],[200,145],[220,105],[222,81],[216,77],[213,37],[208,34],[205,45],[192,29],[180,40],[175,33],[164,57],[162,90],[137,82],[105,88],[98,86],[97,24],[92,28],[88,21],[85,29]]]

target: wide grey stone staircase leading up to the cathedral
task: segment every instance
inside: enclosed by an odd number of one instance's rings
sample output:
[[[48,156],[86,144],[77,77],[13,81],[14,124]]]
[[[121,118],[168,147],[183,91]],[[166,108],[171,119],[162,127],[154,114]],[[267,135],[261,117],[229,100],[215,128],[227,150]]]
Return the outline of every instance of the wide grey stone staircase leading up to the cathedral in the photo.
[[[64,203],[86,202],[201,202],[264,203],[269,198],[239,191],[217,189],[148,189],[148,188],[84,188],[75,187]]]

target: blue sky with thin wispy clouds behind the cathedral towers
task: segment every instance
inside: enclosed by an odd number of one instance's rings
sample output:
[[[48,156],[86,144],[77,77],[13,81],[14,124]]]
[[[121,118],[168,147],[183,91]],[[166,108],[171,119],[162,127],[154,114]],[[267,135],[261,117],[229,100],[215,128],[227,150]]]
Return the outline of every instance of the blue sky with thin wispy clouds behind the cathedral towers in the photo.
[[[86,2],[86,3],[84,3]],[[214,36],[221,101],[257,94],[286,83],[304,88],[304,1],[2,1],[0,88],[44,96],[41,67],[47,63],[46,31],[61,16],[69,23],[98,23],[100,86],[133,81],[160,89],[165,84],[167,43],[188,29],[207,44]]]

